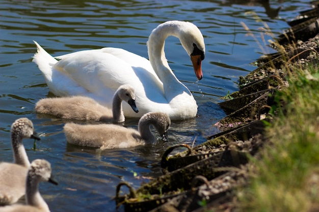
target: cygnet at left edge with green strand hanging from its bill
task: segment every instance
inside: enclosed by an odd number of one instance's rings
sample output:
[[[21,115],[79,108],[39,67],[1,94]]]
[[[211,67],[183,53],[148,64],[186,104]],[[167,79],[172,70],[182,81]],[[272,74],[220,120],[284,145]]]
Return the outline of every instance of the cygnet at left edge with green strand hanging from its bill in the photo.
[[[19,118],[11,126],[14,163],[0,163],[0,205],[17,202],[25,192],[25,177],[30,166],[22,143],[23,138],[40,140],[28,118]]]

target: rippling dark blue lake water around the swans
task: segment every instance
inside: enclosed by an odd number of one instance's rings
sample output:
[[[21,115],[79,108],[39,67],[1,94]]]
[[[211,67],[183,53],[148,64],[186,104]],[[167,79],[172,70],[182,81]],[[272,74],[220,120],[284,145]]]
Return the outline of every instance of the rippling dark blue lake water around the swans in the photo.
[[[195,145],[219,132],[214,124],[226,116],[221,98],[238,90],[237,81],[255,67],[271,36],[288,28],[286,21],[310,8],[308,1],[8,1],[0,8],[0,161],[12,161],[10,127],[15,119],[30,118],[41,136],[36,149],[24,140],[30,161],[44,158],[52,165],[59,186],[41,183],[40,191],[51,211],[116,211],[115,187],[126,180],[134,188],[161,174],[158,161],[172,144]],[[275,9],[282,7],[278,16]],[[193,93],[198,117],[173,122],[170,143],[98,151],[69,145],[62,132],[66,120],[34,112],[41,98],[52,97],[44,78],[32,63],[37,41],[54,56],[101,47],[119,47],[148,58],[146,41],[159,23],[187,20],[201,30],[206,44],[203,79],[196,81],[191,60],[178,39],[166,41],[166,55],[177,78]],[[258,20],[262,20],[261,22]],[[252,31],[246,36],[244,22]],[[264,38],[262,38],[264,37]],[[266,43],[263,42],[266,41]],[[137,128],[137,119],[125,126]],[[137,174],[137,176],[135,176]],[[1,185],[0,185],[1,186]],[[120,208],[121,211],[123,208]]]

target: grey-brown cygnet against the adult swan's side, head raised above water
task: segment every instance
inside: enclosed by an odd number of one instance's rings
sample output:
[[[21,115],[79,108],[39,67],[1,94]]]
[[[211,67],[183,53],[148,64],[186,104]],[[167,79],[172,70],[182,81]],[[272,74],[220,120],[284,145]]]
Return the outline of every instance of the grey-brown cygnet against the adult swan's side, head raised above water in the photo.
[[[41,99],[36,103],[35,110],[62,118],[120,123],[125,121],[122,101],[127,102],[135,112],[139,112],[135,104],[135,89],[130,85],[121,85],[117,89],[113,97],[112,110],[84,96]]]

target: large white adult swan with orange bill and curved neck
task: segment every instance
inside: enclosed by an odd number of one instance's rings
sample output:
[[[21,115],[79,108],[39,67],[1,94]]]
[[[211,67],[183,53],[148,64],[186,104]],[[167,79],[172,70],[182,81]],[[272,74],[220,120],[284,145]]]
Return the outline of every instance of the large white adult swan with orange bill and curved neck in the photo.
[[[184,21],[167,21],[153,29],[147,42],[149,60],[120,48],[84,50],[58,57],[49,55],[37,42],[35,62],[45,81],[57,96],[89,96],[111,108],[120,85],[135,88],[139,113],[123,104],[126,117],[140,117],[156,111],[171,119],[195,117],[197,104],[190,90],[170,69],[164,52],[168,36],[179,38],[190,55],[197,79],[201,79],[204,39],[196,25]]]

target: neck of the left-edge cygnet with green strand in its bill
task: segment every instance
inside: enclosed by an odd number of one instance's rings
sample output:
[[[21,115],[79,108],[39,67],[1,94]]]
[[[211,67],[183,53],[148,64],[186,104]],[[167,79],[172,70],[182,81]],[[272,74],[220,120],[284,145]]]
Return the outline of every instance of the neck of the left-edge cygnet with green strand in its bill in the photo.
[[[30,161],[28,155],[26,155],[25,148],[22,144],[21,136],[12,133],[11,144],[13,148],[14,163],[24,167],[29,167]]]

